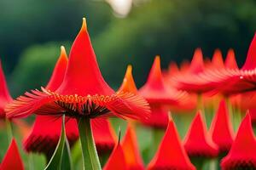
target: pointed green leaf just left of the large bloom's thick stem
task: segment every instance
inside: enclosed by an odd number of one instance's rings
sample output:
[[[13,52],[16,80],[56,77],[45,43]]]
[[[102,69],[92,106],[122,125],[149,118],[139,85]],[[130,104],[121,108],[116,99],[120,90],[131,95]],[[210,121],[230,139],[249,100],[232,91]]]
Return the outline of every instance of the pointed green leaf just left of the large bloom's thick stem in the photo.
[[[50,158],[47,167],[44,170],[61,170],[65,166],[65,169],[72,169],[71,166],[71,158],[70,158],[70,150],[67,145],[67,137],[65,133],[65,116],[62,117],[62,127],[61,127],[61,138],[57,144],[55,152],[53,156]],[[65,149],[66,148],[66,149]],[[62,161],[62,159],[65,159]]]

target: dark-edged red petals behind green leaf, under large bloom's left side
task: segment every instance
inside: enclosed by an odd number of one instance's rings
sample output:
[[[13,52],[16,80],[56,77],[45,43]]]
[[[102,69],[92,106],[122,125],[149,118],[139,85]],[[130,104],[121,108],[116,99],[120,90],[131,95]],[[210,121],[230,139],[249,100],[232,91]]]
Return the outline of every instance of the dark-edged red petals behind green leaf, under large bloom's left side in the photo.
[[[37,116],[31,133],[23,142],[25,150],[51,156],[61,136],[61,122],[61,117]],[[65,127],[69,144],[73,145],[79,139],[76,120],[66,118]]]

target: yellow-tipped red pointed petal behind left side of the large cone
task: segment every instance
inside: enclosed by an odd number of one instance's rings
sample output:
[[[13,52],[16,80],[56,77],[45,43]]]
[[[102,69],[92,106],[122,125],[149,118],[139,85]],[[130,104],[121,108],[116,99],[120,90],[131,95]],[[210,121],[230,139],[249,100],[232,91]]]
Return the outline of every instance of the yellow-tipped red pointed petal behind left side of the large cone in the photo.
[[[46,89],[55,91],[60,87],[61,82],[63,81],[65,71],[67,68],[67,54],[63,46],[61,46],[61,55],[55,64],[55,69],[49,79],[49,82],[46,86]]]

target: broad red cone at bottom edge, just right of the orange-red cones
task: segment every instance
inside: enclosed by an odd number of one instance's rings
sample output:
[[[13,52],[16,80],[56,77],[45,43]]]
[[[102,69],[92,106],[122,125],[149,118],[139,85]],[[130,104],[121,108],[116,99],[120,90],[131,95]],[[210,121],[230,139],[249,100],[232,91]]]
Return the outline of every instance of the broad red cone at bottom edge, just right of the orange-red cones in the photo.
[[[177,129],[173,121],[169,121],[166,134],[154,158],[148,164],[148,169],[179,169],[194,170],[186,151],[181,144]]]

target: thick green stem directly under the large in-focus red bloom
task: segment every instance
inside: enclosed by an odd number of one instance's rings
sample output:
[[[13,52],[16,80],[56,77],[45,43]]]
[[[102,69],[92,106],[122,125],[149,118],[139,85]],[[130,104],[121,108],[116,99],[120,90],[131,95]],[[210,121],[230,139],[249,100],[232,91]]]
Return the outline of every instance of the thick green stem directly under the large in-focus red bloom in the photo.
[[[84,170],[101,170],[101,163],[90,127],[90,119],[79,119],[79,134],[84,158]]]

